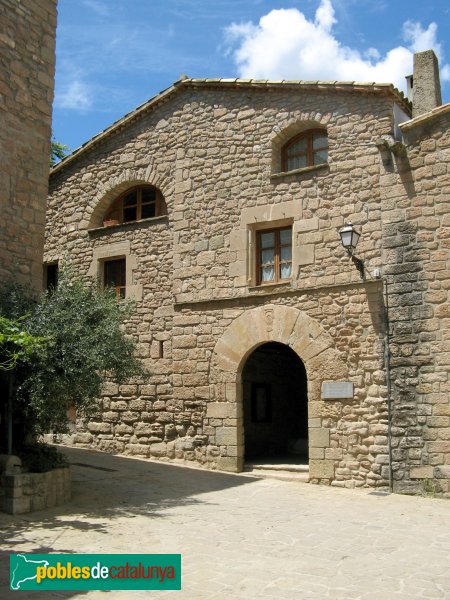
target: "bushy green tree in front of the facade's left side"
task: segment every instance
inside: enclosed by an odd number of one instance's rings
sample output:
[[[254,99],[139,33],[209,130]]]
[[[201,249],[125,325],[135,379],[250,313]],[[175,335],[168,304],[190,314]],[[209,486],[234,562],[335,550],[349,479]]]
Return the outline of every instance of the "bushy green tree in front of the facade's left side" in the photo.
[[[17,289],[15,295],[13,302],[9,296],[0,306],[4,318],[17,318],[26,304]],[[16,321],[16,333],[39,343],[21,356],[20,368],[13,371],[16,421],[19,412],[26,424],[19,433],[21,442],[30,433],[36,437],[66,431],[69,407],[81,416],[96,412],[106,381],[124,383],[145,376],[135,357],[134,338],[124,333],[131,311],[132,306],[117,302],[111,290],[86,285],[67,273],[51,293],[35,303],[28,300],[28,315]],[[0,361],[8,364],[2,346]]]

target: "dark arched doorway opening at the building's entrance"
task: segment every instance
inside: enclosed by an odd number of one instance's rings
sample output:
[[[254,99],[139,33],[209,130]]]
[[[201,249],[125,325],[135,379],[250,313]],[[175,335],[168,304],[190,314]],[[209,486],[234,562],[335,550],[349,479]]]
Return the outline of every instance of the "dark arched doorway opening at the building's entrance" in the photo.
[[[287,345],[267,342],[242,371],[245,460],[307,464],[306,369]]]

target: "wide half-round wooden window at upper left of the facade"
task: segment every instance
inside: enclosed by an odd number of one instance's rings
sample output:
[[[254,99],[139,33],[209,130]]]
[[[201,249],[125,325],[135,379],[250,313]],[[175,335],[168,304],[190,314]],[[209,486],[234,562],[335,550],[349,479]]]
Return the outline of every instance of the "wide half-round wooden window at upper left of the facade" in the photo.
[[[115,200],[103,218],[103,225],[131,223],[166,214],[161,192],[151,185],[140,185],[124,192]]]

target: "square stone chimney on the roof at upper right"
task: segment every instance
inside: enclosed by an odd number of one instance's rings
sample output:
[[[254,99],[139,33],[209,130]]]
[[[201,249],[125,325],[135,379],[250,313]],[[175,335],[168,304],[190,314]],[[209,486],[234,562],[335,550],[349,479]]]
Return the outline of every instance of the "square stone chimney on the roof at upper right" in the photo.
[[[408,91],[412,92],[410,100],[414,118],[442,104],[439,62],[433,50],[414,54],[413,73],[411,90]]]

